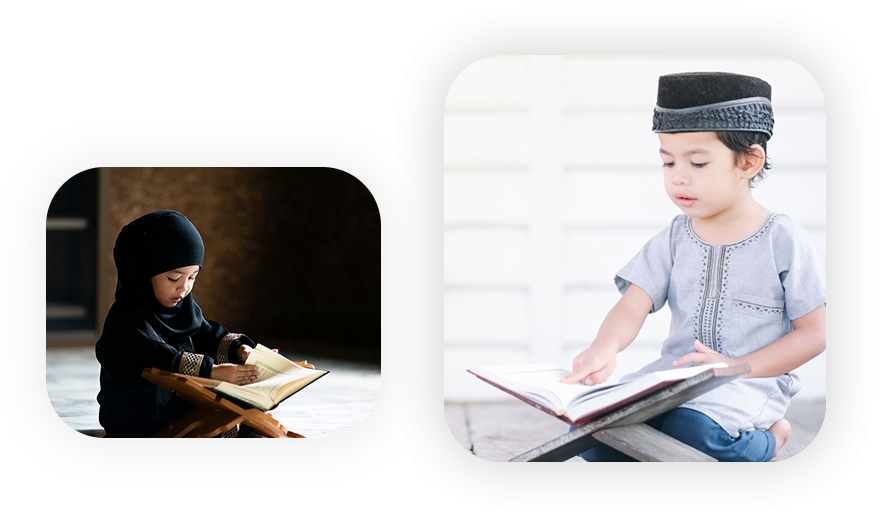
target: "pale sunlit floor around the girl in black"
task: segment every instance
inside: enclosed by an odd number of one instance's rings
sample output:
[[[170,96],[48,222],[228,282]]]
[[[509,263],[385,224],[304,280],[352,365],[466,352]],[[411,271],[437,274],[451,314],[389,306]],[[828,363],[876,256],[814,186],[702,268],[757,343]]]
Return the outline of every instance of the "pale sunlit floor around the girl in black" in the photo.
[[[320,357],[291,358],[308,360],[330,374],[272,410],[275,419],[288,430],[305,437],[337,437],[360,426],[373,411],[382,387],[378,367]],[[99,370],[93,347],[46,350],[50,408],[74,430],[102,428],[96,401]]]

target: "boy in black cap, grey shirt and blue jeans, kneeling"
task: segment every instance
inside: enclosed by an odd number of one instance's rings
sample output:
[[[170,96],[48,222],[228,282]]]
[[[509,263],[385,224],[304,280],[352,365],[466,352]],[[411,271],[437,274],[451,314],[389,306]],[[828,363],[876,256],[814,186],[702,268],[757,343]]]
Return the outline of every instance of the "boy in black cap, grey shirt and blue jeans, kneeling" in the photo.
[[[614,278],[622,299],[562,382],[605,381],[648,313],[667,302],[669,336],[638,374],[688,364],[748,363],[752,372],[648,422],[720,461],[764,462],[789,438],[801,389],[792,372],[826,349],[826,254],[750,193],[773,134],[771,86],[756,77],[660,77],[654,132],[664,185],[683,212]],[[631,460],[607,447],[589,461]]]

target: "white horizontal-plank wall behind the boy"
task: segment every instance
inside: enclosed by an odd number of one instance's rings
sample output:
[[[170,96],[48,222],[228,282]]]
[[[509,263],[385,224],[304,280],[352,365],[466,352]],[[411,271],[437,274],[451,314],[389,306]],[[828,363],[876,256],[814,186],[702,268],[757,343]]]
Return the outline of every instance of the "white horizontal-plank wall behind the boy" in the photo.
[[[444,103],[444,399],[511,399],[466,373],[571,361],[618,301],[626,264],[679,212],[651,117],[660,75],[723,71],[772,88],[773,169],[753,197],[826,249],[826,104],[782,57],[488,57]],[[649,315],[613,378],[659,356],[669,307]],[[826,397],[826,353],[798,398]]]

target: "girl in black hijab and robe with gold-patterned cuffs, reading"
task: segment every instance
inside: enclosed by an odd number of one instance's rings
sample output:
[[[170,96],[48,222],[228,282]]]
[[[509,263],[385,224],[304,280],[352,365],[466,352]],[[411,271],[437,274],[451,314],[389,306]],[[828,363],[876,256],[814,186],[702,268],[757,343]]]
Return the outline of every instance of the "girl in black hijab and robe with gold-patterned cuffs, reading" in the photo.
[[[116,301],[96,343],[99,422],[108,436],[147,437],[192,408],[142,378],[146,367],[240,385],[256,378],[254,366],[235,365],[253,341],[204,319],[191,297],[203,253],[200,233],[176,211],[149,213],[120,231]]]

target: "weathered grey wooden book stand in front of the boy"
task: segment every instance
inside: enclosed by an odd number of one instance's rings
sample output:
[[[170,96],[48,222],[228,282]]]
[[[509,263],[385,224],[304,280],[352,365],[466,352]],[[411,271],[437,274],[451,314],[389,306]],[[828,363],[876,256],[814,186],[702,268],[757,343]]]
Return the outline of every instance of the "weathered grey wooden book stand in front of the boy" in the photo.
[[[580,425],[509,462],[561,462],[601,444],[641,462],[718,462],[644,422],[749,371],[749,364],[704,371]]]

